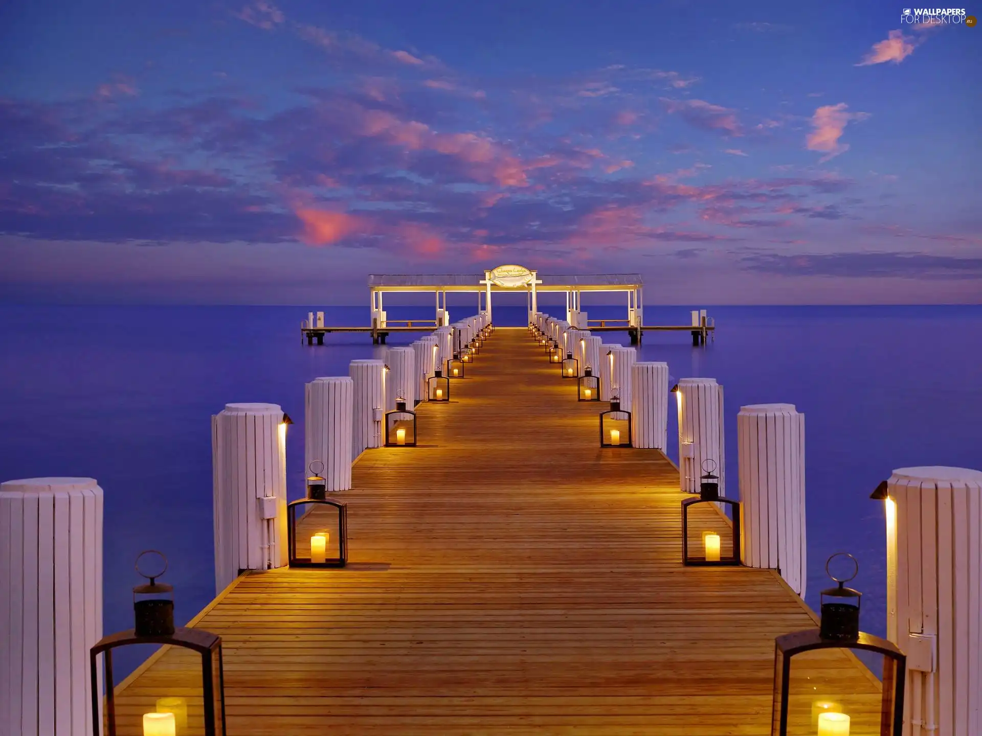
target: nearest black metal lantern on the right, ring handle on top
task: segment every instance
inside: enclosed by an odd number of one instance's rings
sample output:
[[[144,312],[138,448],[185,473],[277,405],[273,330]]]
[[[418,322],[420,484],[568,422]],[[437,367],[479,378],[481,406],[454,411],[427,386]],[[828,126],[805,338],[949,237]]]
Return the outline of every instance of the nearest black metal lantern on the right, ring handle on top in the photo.
[[[850,577],[837,578],[829,571],[839,556],[852,560]],[[838,586],[822,591],[821,626],[775,640],[771,734],[901,736],[906,657],[891,642],[859,631],[862,594],[845,585],[859,571],[855,558],[833,554],[825,570]],[[839,667],[832,650],[841,650]],[[843,668],[872,659],[882,663],[880,682],[857,673],[855,686],[849,688]]]

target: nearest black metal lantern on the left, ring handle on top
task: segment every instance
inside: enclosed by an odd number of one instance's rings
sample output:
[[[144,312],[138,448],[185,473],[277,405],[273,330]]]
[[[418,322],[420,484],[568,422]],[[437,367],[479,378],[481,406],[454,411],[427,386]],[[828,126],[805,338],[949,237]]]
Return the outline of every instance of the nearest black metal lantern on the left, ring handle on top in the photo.
[[[150,575],[140,569],[140,559],[145,554],[160,557],[159,572]],[[144,564],[149,564],[146,560]],[[155,570],[158,568],[154,568]],[[156,550],[140,552],[136,557],[136,572],[150,582],[137,585],[134,596],[134,628],[120,631],[100,639],[89,650],[89,675],[92,693],[92,733],[96,736],[116,736],[127,733],[149,732],[149,728],[171,729],[170,733],[201,733],[204,736],[225,736],[225,672],[222,666],[222,638],[201,629],[174,626],[174,588],[158,583],[157,578],[167,571],[167,557]],[[191,650],[200,656],[200,696],[186,692],[180,698],[161,693],[154,710],[146,713],[134,711],[135,704],[127,704],[117,712],[116,682],[113,677],[113,652],[120,647],[135,644],[165,645]],[[100,718],[98,657],[103,655],[105,667],[105,713]],[[195,667],[196,668],[196,667]],[[184,691],[184,684],[182,683]],[[141,696],[142,697],[142,696]],[[145,708],[145,707],[144,707]],[[105,729],[103,729],[103,722]],[[167,731],[163,731],[167,732]]]

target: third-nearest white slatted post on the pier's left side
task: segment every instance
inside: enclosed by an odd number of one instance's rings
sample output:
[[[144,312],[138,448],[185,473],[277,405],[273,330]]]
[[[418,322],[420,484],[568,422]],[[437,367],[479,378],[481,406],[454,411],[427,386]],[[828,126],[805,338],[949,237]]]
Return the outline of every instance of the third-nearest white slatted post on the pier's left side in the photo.
[[[412,348],[409,349],[411,356]],[[316,378],[303,389],[303,462],[324,463],[328,491],[352,487],[355,382],[348,376]]]

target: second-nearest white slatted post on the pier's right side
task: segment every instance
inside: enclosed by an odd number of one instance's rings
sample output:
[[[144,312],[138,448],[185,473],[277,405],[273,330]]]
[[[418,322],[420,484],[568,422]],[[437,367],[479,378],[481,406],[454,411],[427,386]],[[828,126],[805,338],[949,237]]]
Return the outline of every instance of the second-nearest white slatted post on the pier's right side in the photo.
[[[790,403],[741,406],[736,415],[743,563],[776,569],[804,597],[804,414]],[[720,490],[722,491],[722,485]]]

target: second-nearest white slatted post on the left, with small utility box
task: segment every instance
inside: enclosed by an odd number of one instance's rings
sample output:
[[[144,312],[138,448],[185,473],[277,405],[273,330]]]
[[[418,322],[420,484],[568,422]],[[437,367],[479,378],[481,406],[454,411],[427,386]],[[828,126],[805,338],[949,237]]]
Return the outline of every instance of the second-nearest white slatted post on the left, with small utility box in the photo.
[[[287,564],[287,425],[275,403],[228,403],[211,417],[215,592],[240,570]]]

